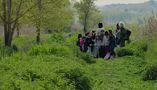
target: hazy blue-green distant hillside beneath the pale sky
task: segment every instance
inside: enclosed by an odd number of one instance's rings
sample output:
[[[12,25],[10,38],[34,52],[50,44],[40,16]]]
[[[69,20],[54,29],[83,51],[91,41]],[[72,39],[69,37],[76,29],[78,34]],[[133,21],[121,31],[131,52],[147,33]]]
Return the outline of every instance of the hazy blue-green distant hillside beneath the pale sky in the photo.
[[[144,18],[157,12],[157,1],[140,4],[112,4],[101,7],[106,22],[126,21],[128,23],[144,23]]]

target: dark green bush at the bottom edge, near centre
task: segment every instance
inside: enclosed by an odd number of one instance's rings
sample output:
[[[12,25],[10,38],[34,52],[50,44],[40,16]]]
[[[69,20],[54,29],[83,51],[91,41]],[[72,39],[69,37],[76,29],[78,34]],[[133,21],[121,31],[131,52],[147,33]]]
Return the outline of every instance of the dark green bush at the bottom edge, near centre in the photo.
[[[79,68],[66,72],[65,77],[69,79],[69,84],[74,84],[76,90],[91,90],[89,78]]]

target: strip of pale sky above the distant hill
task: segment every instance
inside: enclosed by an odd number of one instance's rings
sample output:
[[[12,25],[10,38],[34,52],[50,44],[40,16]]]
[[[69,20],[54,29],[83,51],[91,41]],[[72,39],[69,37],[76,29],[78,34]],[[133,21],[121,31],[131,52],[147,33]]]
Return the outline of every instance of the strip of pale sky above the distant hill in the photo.
[[[128,3],[142,3],[149,0],[97,0],[96,5],[103,6],[109,4],[128,4]]]

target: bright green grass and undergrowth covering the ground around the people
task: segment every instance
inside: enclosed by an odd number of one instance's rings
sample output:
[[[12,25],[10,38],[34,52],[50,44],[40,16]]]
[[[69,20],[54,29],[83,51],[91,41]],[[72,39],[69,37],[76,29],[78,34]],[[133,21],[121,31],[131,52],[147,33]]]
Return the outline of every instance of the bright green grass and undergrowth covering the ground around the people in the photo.
[[[125,50],[133,55],[103,60],[79,52],[75,36],[58,36],[44,35],[40,45],[33,37],[15,38],[19,51],[0,60],[0,90],[157,89],[157,80],[143,80],[157,63],[155,43],[132,42]]]

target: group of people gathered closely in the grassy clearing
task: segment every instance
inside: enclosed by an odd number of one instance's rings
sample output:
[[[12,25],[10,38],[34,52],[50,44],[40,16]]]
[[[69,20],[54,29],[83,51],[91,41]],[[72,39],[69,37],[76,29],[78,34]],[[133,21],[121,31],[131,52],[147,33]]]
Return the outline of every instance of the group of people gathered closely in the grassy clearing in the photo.
[[[77,46],[95,58],[110,59],[116,56],[116,47],[125,47],[125,42],[130,41],[130,35],[131,31],[122,22],[116,25],[115,34],[112,30],[105,31],[103,23],[99,23],[97,31],[87,32],[85,36],[78,35]]]

